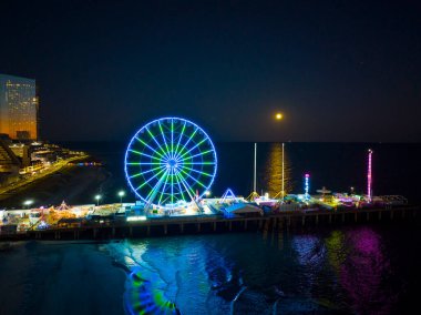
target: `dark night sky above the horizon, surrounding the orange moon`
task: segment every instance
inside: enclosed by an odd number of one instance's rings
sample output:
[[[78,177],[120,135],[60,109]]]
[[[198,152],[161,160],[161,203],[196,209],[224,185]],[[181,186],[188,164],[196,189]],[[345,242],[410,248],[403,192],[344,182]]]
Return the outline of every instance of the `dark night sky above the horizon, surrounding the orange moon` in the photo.
[[[7,0],[0,73],[37,79],[52,141],[175,115],[216,141],[419,142],[420,1],[389,2]]]

